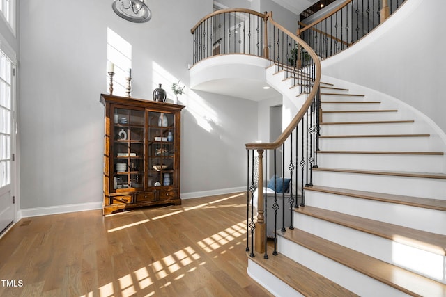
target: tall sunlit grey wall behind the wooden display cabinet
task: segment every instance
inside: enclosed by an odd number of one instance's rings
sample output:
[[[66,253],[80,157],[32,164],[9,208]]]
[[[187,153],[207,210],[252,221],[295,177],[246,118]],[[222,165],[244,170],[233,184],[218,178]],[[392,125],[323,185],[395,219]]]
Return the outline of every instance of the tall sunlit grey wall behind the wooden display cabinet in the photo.
[[[150,22],[127,22],[110,1],[20,1],[22,209],[102,201],[107,28],[132,45],[132,95],[157,83],[188,86],[190,28],[213,1],[152,1]],[[245,143],[256,138],[255,102],[209,93],[180,96],[181,192],[245,187]],[[236,131],[236,133],[234,133]]]

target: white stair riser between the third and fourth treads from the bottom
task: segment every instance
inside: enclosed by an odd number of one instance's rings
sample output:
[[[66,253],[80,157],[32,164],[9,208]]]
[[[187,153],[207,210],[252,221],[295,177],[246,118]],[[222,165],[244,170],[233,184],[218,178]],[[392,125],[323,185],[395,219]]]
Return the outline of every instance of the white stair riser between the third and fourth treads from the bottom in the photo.
[[[446,214],[440,210],[309,190],[305,205],[446,235]]]

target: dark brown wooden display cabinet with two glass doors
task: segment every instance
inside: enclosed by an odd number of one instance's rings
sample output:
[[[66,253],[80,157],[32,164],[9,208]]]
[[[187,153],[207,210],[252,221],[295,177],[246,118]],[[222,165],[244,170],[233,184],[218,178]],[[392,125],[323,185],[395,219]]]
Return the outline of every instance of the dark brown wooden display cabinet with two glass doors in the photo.
[[[105,106],[103,214],[181,204],[178,104],[102,94]]]

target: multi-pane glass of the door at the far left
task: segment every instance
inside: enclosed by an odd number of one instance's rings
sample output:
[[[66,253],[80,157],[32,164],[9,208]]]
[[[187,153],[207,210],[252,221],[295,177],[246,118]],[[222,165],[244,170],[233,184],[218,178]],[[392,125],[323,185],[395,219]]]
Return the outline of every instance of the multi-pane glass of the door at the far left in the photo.
[[[0,188],[11,182],[13,63],[0,51]]]

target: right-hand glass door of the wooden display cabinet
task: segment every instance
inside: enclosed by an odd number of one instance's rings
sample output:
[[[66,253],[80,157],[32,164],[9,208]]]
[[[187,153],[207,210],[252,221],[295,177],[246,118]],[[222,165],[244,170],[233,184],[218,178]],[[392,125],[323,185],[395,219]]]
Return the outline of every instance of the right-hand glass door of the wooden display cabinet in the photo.
[[[174,185],[175,115],[148,111],[147,186]]]

